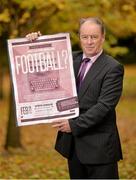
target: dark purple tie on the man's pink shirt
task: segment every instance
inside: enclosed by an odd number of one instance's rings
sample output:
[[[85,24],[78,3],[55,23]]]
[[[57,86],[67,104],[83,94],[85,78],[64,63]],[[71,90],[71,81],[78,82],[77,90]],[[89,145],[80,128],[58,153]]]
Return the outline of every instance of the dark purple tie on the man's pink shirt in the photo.
[[[78,77],[77,77],[77,91],[79,90],[80,86],[81,86],[81,83],[84,79],[84,74],[85,74],[85,70],[87,68],[87,65],[88,65],[88,62],[90,61],[89,58],[84,58],[82,60],[82,64],[81,64],[81,68],[80,68],[80,72],[78,74]]]

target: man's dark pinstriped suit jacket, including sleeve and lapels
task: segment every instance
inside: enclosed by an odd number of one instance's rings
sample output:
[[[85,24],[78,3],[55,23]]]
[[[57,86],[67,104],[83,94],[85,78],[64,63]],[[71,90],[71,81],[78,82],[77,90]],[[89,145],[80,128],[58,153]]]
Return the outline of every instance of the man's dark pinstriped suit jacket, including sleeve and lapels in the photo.
[[[74,58],[75,78],[82,53]],[[122,92],[123,66],[104,52],[88,71],[78,93],[80,115],[70,119],[72,133],[58,132],[55,149],[70,158],[75,145],[84,164],[105,164],[122,159],[115,107]]]

